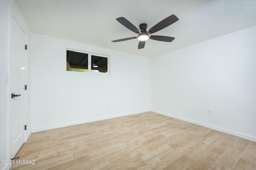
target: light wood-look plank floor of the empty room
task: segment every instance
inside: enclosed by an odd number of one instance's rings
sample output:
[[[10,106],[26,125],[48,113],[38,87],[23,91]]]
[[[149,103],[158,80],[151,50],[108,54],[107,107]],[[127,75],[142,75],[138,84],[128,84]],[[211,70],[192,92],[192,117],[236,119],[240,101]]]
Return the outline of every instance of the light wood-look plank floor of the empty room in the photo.
[[[32,133],[18,156],[34,164],[11,170],[255,170],[256,142],[146,112]]]

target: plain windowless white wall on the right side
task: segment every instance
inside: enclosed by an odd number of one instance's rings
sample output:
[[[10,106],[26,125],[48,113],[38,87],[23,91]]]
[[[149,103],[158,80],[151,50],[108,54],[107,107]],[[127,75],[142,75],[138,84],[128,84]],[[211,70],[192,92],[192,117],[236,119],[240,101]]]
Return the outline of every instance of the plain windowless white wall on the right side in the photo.
[[[256,141],[255,45],[250,27],[154,57],[152,110]]]

